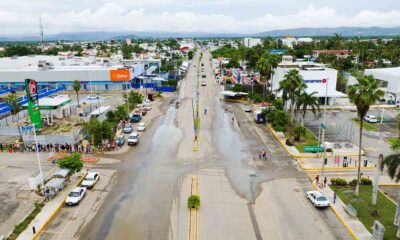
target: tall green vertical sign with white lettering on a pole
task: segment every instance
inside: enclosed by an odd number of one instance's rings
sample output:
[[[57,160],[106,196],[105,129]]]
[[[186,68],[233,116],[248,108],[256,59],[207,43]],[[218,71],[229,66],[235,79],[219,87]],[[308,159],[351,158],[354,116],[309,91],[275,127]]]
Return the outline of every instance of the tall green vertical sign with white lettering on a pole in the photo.
[[[31,123],[35,125],[36,129],[42,128],[37,82],[33,79],[25,79],[25,91],[28,98],[28,112]]]

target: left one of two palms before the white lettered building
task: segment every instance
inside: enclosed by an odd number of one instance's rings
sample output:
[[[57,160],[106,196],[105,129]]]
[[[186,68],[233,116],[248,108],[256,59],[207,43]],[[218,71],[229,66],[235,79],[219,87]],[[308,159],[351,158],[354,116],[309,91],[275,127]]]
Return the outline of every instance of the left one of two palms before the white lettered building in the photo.
[[[304,81],[303,77],[299,75],[299,70],[291,69],[284,77],[283,81],[279,83],[278,91],[282,91],[282,98],[284,101],[290,100],[290,119],[291,124],[293,124],[294,120],[294,107],[296,104],[297,98],[297,90],[303,87],[304,88]],[[286,106],[286,102],[285,102]]]

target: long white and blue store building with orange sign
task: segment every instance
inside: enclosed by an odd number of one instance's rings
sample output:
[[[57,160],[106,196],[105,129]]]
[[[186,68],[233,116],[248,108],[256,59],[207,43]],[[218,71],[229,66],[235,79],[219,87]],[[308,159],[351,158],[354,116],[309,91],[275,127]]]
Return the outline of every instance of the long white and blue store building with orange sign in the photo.
[[[75,80],[83,91],[124,90],[145,72],[143,63],[122,64],[109,58],[65,58],[58,56],[25,56],[0,58],[0,86],[24,89],[26,78],[34,79],[40,88],[64,86],[72,90]]]

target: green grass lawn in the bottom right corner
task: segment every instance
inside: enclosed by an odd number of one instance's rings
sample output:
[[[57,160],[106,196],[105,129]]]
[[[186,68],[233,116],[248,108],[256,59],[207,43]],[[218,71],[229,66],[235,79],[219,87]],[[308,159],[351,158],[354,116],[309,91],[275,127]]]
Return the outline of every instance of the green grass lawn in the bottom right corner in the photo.
[[[396,205],[381,192],[378,192],[377,205],[373,206],[372,185],[360,186],[360,205],[358,209],[358,219],[364,224],[369,232],[372,233],[374,220],[378,220],[385,226],[384,239],[396,239],[398,227],[393,225]],[[355,187],[331,186],[336,191],[337,196],[345,203],[351,203],[357,208],[357,198],[354,196]]]

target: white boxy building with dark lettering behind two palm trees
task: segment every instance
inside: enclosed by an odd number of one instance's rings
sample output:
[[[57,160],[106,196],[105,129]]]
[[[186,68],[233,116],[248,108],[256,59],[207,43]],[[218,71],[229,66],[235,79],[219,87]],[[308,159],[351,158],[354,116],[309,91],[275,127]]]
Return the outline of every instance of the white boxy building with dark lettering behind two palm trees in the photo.
[[[320,98],[321,103],[325,102],[327,96],[328,104],[334,105],[336,98],[346,96],[344,93],[336,91],[337,70],[313,62],[293,62],[286,57],[283,59],[285,61],[274,69],[272,77],[272,91],[277,93],[278,96],[281,95],[281,92],[278,92],[279,83],[284,80],[285,75],[291,69],[299,71],[307,85],[306,91],[308,93],[316,92],[315,96]]]

